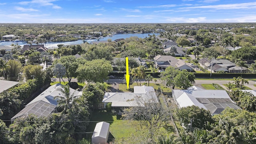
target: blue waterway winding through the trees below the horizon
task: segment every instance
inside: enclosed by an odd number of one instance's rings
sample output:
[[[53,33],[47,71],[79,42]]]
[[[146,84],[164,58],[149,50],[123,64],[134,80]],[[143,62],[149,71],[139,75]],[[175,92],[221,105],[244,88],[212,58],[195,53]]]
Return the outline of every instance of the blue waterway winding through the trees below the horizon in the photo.
[[[113,40],[116,40],[116,39],[119,39],[119,38],[130,38],[132,36],[137,36],[138,38],[146,38],[148,37],[148,35],[158,35],[156,33],[144,33],[144,34],[114,34],[112,37],[109,37],[109,36],[106,36],[106,37],[103,37],[103,38],[100,38],[100,39],[89,39],[89,40],[85,40],[86,42],[90,43],[92,41],[104,41],[104,40],[108,40],[108,39],[111,39],[112,41]],[[58,48],[58,44],[64,44],[64,45],[71,45],[71,44],[82,44],[84,43],[84,40],[77,40],[77,41],[74,41],[74,42],[47,42],[46,43],[46,47],[47,48]],[[19,44],[20,46],[24,46],[26,45],[27,43],[26,42],[0,42],[0,45],[6,45],[6,46],[10,46],[11,44]]]

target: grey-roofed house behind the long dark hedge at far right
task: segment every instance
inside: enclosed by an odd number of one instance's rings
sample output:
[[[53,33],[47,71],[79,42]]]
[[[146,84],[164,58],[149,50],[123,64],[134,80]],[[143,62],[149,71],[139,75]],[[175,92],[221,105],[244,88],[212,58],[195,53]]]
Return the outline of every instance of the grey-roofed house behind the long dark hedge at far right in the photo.
[[[201,67],[203,67],[206,70],[209,70],[212,72],[230,72],[229,69],[232,67],[235,67],[236,64],[233,62],[230,62],[229,60],[208,60],[206,58],[202,58],[201,60],[198,60],[198,63]]]

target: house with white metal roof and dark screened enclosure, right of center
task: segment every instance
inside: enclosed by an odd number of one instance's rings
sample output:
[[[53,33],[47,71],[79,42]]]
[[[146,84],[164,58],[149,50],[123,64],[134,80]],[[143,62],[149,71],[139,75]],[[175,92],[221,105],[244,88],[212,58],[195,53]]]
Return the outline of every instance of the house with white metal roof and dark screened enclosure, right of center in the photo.
[[[179,108],[194,105],[209,110],[212,115],[220,114],[226,107],[241,109],[226,90],[172,90],[172,98]]]

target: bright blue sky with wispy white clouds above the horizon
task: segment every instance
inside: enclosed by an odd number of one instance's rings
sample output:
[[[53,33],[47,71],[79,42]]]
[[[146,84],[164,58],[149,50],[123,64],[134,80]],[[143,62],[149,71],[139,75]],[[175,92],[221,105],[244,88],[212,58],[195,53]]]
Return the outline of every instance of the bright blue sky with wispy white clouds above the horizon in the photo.
[[[196,22],[256,22],[256,1],[0,0],[0,23]]]

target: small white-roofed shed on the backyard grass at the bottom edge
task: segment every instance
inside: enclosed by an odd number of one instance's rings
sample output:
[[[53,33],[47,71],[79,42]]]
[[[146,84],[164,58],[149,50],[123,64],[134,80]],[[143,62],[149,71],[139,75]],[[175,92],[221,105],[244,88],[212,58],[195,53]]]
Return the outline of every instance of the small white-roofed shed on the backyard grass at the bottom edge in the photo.
[[[108,142],[109,123],[98,122],[92,134],[92,144],[106,144]]]

